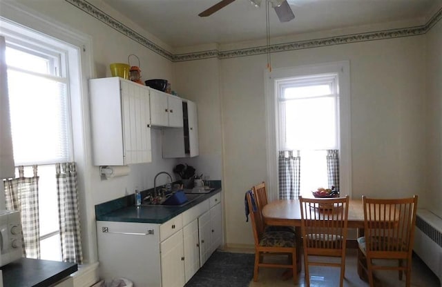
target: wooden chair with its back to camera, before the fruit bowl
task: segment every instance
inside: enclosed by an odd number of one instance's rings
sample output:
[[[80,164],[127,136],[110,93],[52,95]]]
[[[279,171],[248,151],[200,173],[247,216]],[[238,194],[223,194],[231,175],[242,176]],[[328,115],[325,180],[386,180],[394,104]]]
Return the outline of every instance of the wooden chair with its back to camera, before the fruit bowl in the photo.
[[[308,199],[300,196],[299,202],[306,286],[310,286],[309,266],[334,266],[340,267],[339,286],[342,287],[349,196],[330,199]],[[340,257],[340,262],[321,261],[320,257],[324,256]]]

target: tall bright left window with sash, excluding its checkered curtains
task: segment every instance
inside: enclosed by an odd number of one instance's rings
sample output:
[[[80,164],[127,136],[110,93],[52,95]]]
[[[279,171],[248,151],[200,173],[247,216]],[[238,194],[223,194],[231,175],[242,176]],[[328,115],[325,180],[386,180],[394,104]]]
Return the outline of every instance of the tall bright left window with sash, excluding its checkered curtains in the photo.
[[[32,177],[38,165],[40,258],[61,261],[55,163],[74,161],[68,52],[65,43],[4,24],[15,166]]]

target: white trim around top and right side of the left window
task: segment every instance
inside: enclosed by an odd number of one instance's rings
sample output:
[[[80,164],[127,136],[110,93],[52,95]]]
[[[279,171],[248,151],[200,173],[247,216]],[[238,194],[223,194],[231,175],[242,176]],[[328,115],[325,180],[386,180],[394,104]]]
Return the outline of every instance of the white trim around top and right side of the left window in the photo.
[[[78,189],[81,212],[81,244],[84,250],[84,261],[97,261],[96,238],[90,236],[95,233],[95,209],[92,192],[92,165],[90,152],[90,119],[88,100],[88,79],[95,75],[93,70],[93,41],[92,37],[75,30],[66,24],[50,19],[44,14],[36,12],[15,1],[0,1],[0,20],[15,23],[19,26],[32,28],[37,32],[47,34],[54,39],[68,43],[70,49],[79,51],[80,59],[69,62],[69,73],[78,72],[77,81],[70,81],[72,97],[71,109],[73,115],[80,119],[73,121],[74,154],[77,162],[79,177]],[[0,30],[5,27],[0,23]],[[73,97],[79,95],[79,97]]]

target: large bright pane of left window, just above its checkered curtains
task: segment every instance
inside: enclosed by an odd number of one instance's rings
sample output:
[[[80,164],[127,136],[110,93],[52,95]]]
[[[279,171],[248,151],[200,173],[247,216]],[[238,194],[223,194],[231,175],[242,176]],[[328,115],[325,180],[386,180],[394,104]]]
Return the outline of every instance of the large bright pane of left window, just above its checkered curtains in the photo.
[[[68,161],[66,84],[8,70],[8,89],[15,164]]]

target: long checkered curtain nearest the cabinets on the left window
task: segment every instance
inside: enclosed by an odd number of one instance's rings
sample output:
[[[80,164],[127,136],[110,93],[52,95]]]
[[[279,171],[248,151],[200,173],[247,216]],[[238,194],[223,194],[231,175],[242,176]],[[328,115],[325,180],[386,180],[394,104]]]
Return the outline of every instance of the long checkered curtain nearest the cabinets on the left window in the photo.
[[[56,164],[57,199],[61,255],[63,261],[83,262],[81,232],[77,196],[77,170],[74,162]]]

